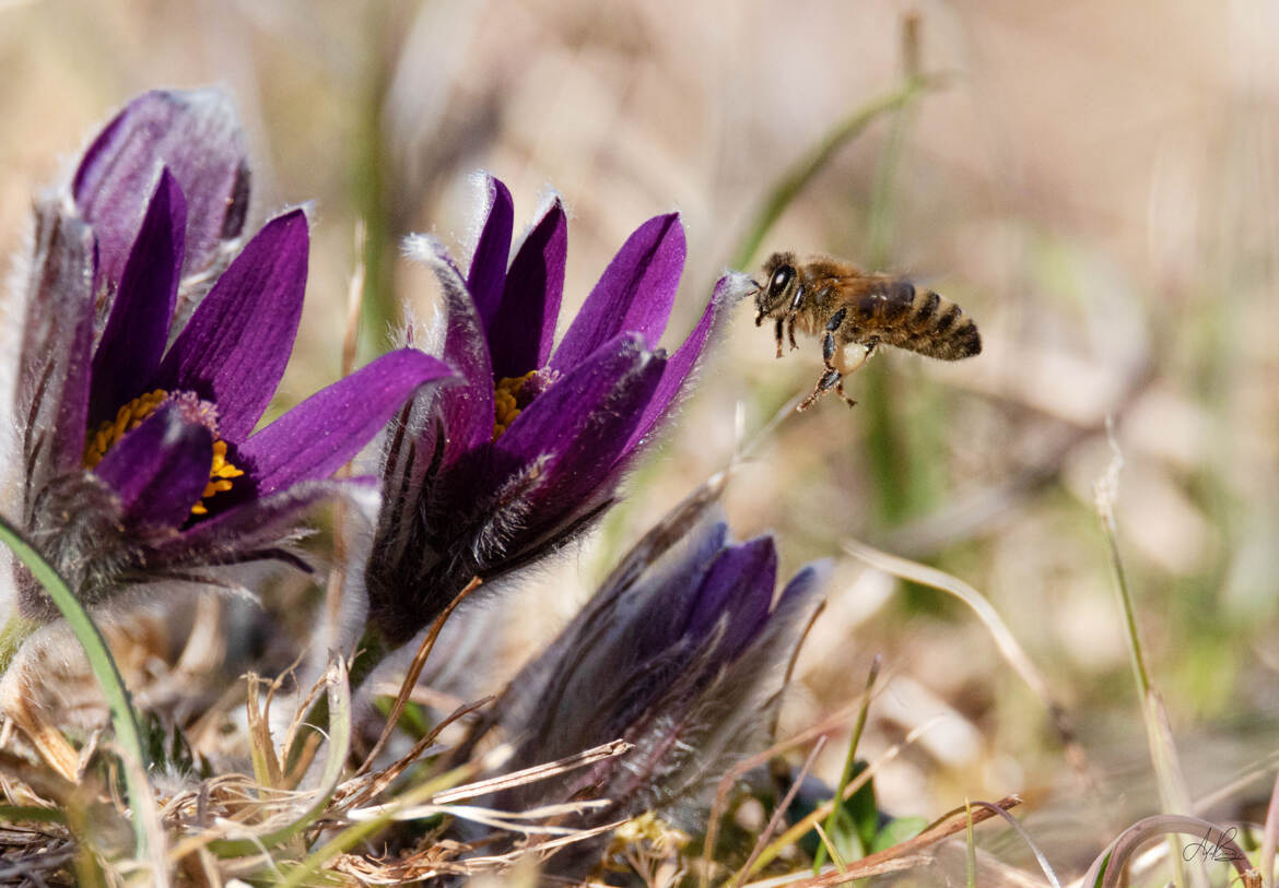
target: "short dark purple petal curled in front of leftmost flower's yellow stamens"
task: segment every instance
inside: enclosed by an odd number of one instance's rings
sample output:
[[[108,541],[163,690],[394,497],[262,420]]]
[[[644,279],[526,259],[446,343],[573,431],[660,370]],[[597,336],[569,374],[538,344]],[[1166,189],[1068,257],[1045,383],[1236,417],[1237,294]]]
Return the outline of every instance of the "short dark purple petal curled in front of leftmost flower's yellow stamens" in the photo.
[[[212,461],[212,433],[168,404],[120,438],[93,471],[119,494],[129,523],[177,528],[203,493]]]

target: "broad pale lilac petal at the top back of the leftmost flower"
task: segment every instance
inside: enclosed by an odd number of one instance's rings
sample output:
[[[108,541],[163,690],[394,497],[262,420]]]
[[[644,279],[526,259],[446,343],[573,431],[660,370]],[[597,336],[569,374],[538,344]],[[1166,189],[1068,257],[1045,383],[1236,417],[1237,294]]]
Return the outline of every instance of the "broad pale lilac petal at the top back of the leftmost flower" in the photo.
[[[184,276],[207,267],[221,241],[244,226],[248,166],[230,97],[221,89],[148,92],[98,134],[72,183],[113,282],[124,271],[161,166],[187,198]]]

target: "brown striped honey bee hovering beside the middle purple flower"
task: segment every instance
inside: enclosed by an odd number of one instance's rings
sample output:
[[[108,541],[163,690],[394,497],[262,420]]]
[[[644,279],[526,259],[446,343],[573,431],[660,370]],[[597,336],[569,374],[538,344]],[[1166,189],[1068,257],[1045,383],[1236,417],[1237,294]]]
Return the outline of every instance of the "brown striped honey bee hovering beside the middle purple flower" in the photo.
[[[848,406],[844,377],[865,364],[879,345],[895,345],[929,358],[959,360],[981,353],[981,335],[955,303],[904,277],[867,275],[849,262],[829,256],[774,253],[764,264],[765,284],[756,282],[755,326],[775,322],[778,358],[785,330],[790,348],[796,328],[821,336],[825,372],[796,410],[807,410],[834,388]],[[844,360],[847,345],[865,351],[857,363]]]

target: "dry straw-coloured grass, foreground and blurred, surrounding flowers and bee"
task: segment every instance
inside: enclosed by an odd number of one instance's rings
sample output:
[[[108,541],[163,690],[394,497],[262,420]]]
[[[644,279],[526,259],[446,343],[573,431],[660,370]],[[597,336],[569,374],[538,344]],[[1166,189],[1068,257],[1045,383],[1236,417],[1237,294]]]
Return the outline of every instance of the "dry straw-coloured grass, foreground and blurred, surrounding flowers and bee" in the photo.
[[[790,664],[778,746],[721,782],[703,820],[718,851],[632,822],[601,879],[1092,885],[1120,839],[1111,880],[1123,860],[1133,885],[1227,884],[1248,866],[1273,884],[1276,49],[1266,0],[0,4],[0,252],[22,248],[33,190],[155,86],[231,91],[258,221],[315,201],[307,308],[269,415],[339,376],[357,268],[357,363],[385,348],[399,300],[428,310],[434,284],[398,241],[467,244],[476,169],[510,185],[517,225],[546,187],[563,194],[569,309],[640,221],[678,208],[674,336],[723,268],[797,249],[909,273],[984,339],[957,364],[886,350],[848,379],[858,406],[794,414],[817,342],[775,360],[739,307],[602,528],[459,608],[416,686],[416,644],[373,676],[373,701],[350,700],[331,664],[312,691],[327,744],[297,730],[293,667],[313,654],[324,572],[343,569],[331,511],[308,542],[318,579],[100,615],[168,763],[150,779],[127,779],[116,733],[92,727],[105,709],[67,653],[78,641],[42,630],[4,700],[0,883],[538,884],[537,860],[582,838],[556,828],[565,811],[469,808],[505,750],[457,769],[444,753],[647,528],[733,466],[738,535],[775,533],[783,576],[830,558],[826,603]],[[813,877],[812,822],[770,822],[766,769],[807,769],[820,804],[847,783],[854,728],[874,801],[927,831],[861,864],[831,839]],[[1126,843],[1177,831],[1182,845]],[[1228,873],[1196,854],[1218,842],[1250,861]]]

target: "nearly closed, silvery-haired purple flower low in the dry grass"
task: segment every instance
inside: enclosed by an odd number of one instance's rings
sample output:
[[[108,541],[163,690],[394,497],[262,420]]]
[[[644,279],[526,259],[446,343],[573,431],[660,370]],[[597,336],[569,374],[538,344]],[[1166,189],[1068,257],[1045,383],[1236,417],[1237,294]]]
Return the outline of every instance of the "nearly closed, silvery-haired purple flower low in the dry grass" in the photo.
[[[766,745],[780,667],[821,570],[801,570],[774,603],[773,539],[734,543],[716,511],[703,488],[652,529],[491,708],[517,744],[506,769],[616,739],[634,749],[510,790],[494,808],[602,797],[608,808],[569,825],[652,810],[691,829],[719,777]],[[549,870],[581,877],[597,851],[573,846]]]

